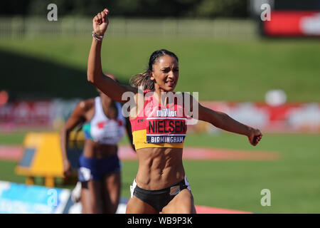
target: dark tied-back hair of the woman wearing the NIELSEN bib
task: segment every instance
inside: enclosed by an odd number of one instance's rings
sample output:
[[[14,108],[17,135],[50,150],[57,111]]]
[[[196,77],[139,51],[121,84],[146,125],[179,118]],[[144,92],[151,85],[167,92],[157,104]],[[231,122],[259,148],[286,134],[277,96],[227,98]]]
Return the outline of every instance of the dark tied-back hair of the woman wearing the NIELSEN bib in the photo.
[[[136,88],[138,86],[142,86],[144,90],[154,90],[154,81],[151,80],[149,71],[153,71],[152,66],[154,63],[156,63],[158,58],[166,55],[176,58],[176,61],[178,62],[178,57],[171,51],[166,49],[154,51],[149,58],[149,64],[146,68],[146,71],[144,71],[144,73],[138,73],[132,76],[132,78],[130,78],[130,85]]]

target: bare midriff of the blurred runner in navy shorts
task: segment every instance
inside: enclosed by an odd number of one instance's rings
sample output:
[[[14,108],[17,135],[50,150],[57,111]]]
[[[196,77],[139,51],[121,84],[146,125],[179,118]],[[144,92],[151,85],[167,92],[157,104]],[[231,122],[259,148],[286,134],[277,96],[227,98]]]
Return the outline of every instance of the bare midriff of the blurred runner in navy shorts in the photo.
[[[117,145],[101,144],[92,140],[85,140],[83,155],[89,158],[105,158],[117,155]]]

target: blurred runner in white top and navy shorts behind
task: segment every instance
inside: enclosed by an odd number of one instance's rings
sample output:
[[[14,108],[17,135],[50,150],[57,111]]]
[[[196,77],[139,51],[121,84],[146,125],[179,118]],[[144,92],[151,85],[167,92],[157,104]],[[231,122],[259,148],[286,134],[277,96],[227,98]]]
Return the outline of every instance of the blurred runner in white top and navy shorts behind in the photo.
[[[108,76],[114,80],[114,76]],[[63,172],[65,177],[72,174],[67,157],[68,138],[73,129],[83,124],[85,145],[78,168],[82,213],[113,214],[117,211],[121,189],[117,143],[126,128],[132,142],[132,132],[129,120],[122,115],[122,105],[100,90],[98,93],[100,96],[78,103],[61,132]]]

